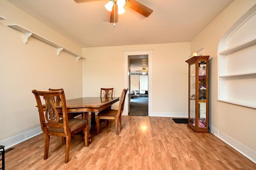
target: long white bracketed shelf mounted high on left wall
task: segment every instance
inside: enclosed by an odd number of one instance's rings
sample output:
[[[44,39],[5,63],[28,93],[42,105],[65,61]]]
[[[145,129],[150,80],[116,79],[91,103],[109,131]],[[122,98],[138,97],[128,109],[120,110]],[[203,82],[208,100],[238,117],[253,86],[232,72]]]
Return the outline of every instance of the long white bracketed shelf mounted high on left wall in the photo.
[[[62,47],[62,46],[44,38],[44,37],[42,37],[42,36],[40,36],[36,33],[34,33],[34,32],[32,32],[32,31],[29,31],[28,29],[26,29],[26,28],[24,28],[24,27],[22,27],[22,26],[20,26],[16,23],[7,24],[7,26],[24,33],[24,43],[25,44],[28,42],[29,37],[34,37],[34,38],[36,38],[36,39],[38,39],[38,40],[40,40],[44,43],[47,43],[47,44],[49,44],[53,47],[56,47],[57,48],[57,55],[60,55],[60,51],[65,51],[66,53],[74,55],[76,57],[76,62],[78,62],[79,59],[85,59],[84,57],[81,57],[80,55],[78,55],[78,54],[76,54],[76,53],[74,53],[74,52],[72,52],[72,51],[70,51],[70,50],[68,50],[68,49],[66,49],[66,48],[64,48],[64,47]]]

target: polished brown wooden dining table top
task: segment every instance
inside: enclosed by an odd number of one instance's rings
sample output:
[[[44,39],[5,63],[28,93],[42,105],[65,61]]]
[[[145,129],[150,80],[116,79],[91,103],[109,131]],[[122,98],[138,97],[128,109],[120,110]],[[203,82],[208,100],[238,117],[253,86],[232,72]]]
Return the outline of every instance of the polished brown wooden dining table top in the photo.
[[[68,112],[99,112],[118,102],[120,97],[83,97],[66,100]],[[56,109],[62,109],[61,102],[55,102]]]

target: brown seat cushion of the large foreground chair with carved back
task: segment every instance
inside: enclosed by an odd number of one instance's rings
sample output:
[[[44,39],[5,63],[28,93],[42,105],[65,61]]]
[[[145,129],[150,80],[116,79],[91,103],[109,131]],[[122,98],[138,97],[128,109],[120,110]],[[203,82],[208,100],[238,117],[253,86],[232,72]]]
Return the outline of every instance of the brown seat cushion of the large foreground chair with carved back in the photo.
[[[63,119],[61,119],[59,123],[63,124]],[[87,123],[88,121],[86,119],[68,119],[68,127],[71,132],[86,125]],[[48,131],[64,133],[64,128],[48,127]]]

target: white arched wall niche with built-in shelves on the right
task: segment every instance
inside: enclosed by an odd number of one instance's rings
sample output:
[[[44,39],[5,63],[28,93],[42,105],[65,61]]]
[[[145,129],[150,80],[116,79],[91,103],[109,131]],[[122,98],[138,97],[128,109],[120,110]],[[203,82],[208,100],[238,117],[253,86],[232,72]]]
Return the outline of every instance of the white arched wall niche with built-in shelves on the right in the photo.
[[[256,108],[256,5],[222,37],[218,46],[218,100]]]

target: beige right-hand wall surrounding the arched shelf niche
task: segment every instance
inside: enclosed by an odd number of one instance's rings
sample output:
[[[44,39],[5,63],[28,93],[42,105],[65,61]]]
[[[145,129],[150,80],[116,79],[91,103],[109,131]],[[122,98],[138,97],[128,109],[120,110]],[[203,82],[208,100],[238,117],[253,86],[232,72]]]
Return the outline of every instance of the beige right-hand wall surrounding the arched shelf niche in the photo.
[[[191,52],[205,47],[210,55],[209,123],[216,135],[235,146],[236,143],[256,152],[256,109],[218,102],[218,43],[228,29],[254,4],[255,0],[235,0],[191,41]],[[241,87],[242,88],[242,87]],[[234,143],[228,141],[233,139]],[[236,147],[236,146],[235,146]],[[242,149],[240,149],[242,150]],[[255,154],[254,154],[255,157]]]

